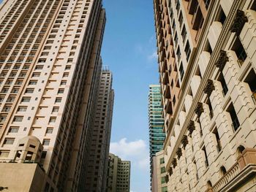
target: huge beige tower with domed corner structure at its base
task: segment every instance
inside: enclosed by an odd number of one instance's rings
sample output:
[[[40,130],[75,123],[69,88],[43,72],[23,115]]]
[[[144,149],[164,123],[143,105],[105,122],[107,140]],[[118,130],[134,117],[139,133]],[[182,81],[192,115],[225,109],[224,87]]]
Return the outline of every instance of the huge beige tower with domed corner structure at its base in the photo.
[[[8,191],[84,190],[104,27],[100,0],[2,2],[0,183]]]

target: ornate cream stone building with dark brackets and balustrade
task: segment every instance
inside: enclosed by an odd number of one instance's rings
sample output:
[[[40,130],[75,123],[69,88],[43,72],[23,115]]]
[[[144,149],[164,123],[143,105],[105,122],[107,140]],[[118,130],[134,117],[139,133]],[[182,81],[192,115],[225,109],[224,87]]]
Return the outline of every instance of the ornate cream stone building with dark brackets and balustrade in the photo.
[[[167,191],[256,190],[255,10],[154,0]]]

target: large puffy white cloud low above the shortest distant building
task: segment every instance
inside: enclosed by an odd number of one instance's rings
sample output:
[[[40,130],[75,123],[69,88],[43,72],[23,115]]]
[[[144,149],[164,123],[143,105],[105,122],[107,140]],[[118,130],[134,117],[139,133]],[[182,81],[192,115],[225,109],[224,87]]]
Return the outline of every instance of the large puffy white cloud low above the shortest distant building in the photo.
[[[148,146],[142,139],[127,142],[127,138],[123,138],[118,142],[111,142],[110,153],[118,155],[123,160],[132,161],[132,166],[138,166],[140,169],[149,167]]]

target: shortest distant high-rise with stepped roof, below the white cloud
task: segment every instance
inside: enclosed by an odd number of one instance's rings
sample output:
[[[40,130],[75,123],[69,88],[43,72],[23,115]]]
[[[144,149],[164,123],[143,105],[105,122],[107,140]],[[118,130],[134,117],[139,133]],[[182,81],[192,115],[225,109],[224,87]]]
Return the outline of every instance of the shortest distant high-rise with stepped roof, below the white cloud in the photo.
[[[122,161],[117,155],[109,153],[108,192],[129,192],[131,162]]]

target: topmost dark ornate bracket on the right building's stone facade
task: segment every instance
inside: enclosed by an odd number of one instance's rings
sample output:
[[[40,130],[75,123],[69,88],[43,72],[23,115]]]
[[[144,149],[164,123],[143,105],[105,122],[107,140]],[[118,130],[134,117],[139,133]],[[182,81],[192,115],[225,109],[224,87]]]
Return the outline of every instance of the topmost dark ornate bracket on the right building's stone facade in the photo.
[[[234,19],[234,23],[230,27],[230,31],[233,33],[235,32],[236,35],[239,36],[244,27],[244,23],[246,22],[248,22],[248,18],[245,16],[243,11],[238,9],[236,12],[236,18]]]

